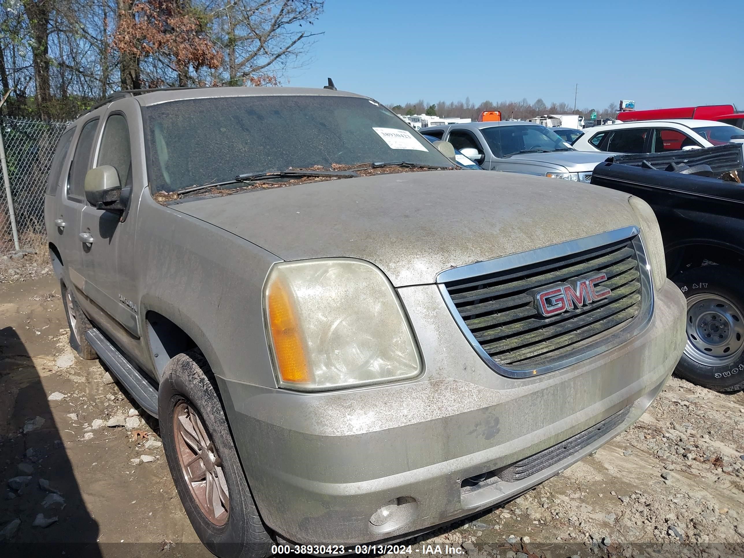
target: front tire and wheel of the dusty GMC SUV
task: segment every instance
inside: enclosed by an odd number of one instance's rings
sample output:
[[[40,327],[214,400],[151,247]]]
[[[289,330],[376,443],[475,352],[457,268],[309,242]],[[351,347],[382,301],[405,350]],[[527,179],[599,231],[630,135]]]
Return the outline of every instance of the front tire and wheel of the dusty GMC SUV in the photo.
[[[273,541],[251,495],[213,382],[211,369],[199,350],[176,355],[166,365],[158,391],[158,420],[168,468],[186,515],[209,551],[219,558],[267,557],[271,554]],[[190,431],[179,426],[184,423],[190,426]],[[182,467],[183,462],[196,455],[186,438],[189,432],[199,431],[204,436],[196,443],[202,448],[211,447],[211,452],[202,453],[202,456],[214,456],[216,461],[213,458],[212,464],[202,466],[205,461],[201,458],[194,467],[204,469],[205,477],[213,478],[213,487],[221,480],[224,481],[221,486],[227,487],[225,496],[228,503],[219,498],[211,510],[206,504],[208,498],[204,497],[209,482],[207,478],[203,481],[204,490],[202,482],[194,484],[196,488],[192,489]],[[193,436],[190,440],[193,443]],[[202,440],[211,442],[211,445],[201,443]],[[209,468],[213,473],[208,472]],[[192,468],[189,472],[193,475]],[[217,494],[219,496],[219,492]]]

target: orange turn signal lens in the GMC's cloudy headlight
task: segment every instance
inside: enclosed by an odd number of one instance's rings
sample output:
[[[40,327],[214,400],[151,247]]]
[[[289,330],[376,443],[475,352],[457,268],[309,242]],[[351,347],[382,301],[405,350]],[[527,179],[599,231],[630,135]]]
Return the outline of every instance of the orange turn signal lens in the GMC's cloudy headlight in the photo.
[[[288,287],[283,280],[274,278],[269,282],[266,291],[266,313],[281,381],[290,384],[309,383],[310,370],[300,338],[297,315],[292,306]]]

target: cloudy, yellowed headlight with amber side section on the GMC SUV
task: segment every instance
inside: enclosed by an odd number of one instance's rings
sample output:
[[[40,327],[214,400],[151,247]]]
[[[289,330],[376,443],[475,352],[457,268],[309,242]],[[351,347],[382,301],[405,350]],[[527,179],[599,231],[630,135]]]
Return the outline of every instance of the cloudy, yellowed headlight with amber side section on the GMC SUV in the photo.
[[[278,263],[263,292],[279,385],[347,388],[417,376],[421,360],[388,278],[362,260]]]

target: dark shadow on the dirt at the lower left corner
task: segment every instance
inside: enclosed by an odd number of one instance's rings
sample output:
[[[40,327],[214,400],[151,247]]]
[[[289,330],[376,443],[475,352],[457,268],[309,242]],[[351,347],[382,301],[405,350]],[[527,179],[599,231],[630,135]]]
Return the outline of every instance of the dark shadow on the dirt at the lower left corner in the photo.
[[[5,556],[100,557],[98,523],[83,503],[41,374],[15,328],[0,329],[0,544]]]

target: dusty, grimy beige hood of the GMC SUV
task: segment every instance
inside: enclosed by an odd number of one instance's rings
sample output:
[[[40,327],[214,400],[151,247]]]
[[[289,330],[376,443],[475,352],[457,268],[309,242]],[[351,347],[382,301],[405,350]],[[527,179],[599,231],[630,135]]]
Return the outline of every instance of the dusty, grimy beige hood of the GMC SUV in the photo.
[[[634,225],[627,199],[567,180],[460,170],[312,182],[170,207],[283,260],[359,257],[404,286],[433,283],[451,267]]]

